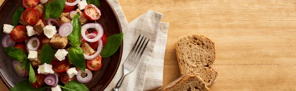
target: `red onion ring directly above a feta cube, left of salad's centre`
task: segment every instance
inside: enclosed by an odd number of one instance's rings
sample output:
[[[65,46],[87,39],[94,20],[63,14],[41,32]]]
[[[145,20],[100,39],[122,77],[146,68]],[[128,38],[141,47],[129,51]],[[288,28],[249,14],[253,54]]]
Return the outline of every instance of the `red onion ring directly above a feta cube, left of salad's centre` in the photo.
[[[36,47],[33,46],[34,41],[37,41]],[[28,50],[36,51],[36,50],[38,50],[38,48],[40,46],[40,41],[37,37],[32,37],[31,39],[28,40],[28,42],[26,43],[26,46],[27,46]]]

